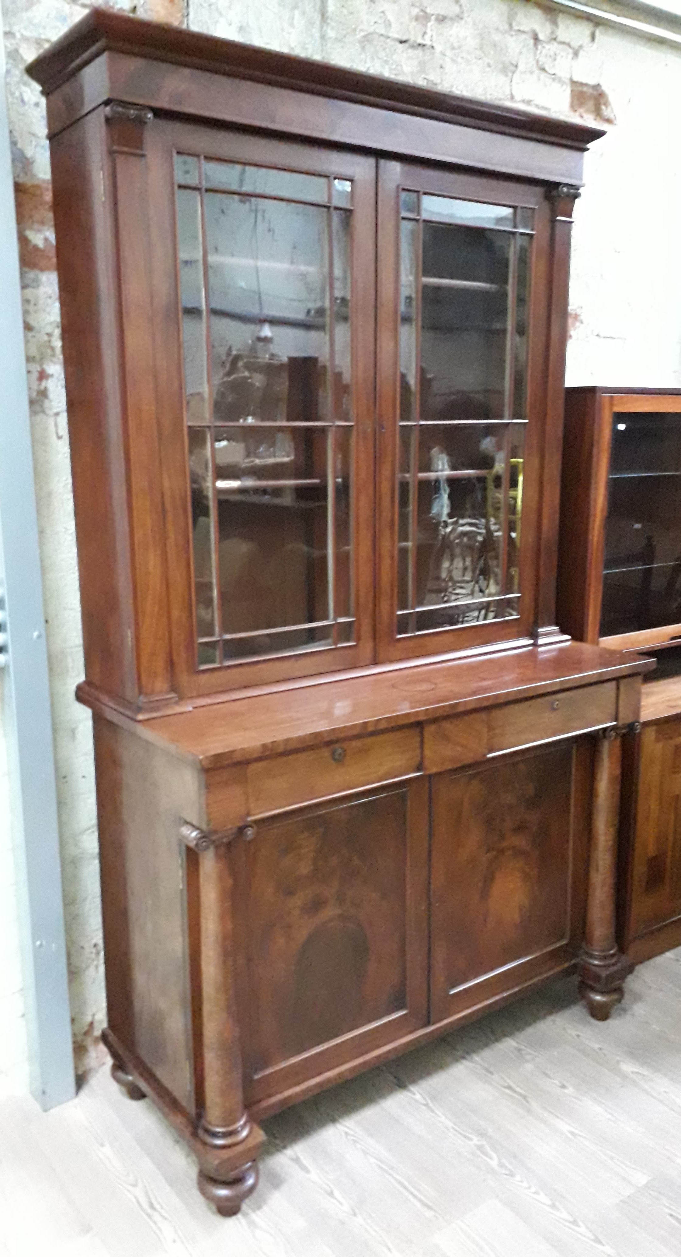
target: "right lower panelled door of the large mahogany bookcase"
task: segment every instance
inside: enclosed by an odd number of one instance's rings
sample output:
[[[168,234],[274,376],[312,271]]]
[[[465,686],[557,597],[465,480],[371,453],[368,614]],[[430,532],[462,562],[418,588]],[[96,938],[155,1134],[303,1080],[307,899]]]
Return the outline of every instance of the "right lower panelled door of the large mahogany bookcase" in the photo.
[[[591,762],[583,739],[432,778],[433,1022],[574,958]]]

